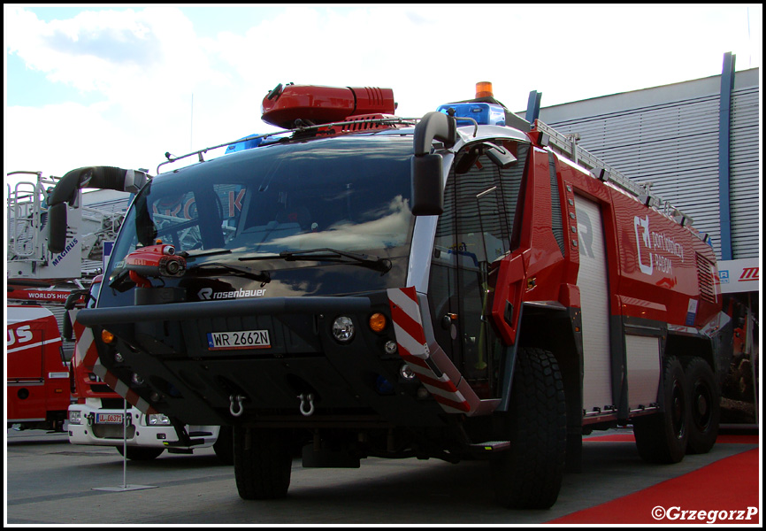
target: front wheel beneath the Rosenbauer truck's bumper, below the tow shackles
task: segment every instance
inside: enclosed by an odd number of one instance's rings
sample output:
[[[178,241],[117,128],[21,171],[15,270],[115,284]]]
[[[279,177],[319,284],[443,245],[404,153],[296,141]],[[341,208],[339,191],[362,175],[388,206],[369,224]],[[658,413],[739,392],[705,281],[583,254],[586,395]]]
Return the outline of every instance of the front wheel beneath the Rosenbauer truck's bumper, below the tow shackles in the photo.
[[[234,427],[234,478],[245,500],[287,496],[290,486],[289,437],[280,430]]]

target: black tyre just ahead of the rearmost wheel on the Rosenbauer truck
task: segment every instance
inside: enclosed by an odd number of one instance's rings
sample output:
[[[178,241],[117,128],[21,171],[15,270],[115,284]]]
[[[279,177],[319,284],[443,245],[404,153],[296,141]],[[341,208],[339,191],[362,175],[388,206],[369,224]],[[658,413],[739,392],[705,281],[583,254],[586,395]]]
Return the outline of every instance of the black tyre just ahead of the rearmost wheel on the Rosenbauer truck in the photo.
[[[689,393],[678,358],[665,361],[662,396],[664,412],[633,419],[640,457],[648,463],[678,463],[689,440]]]

